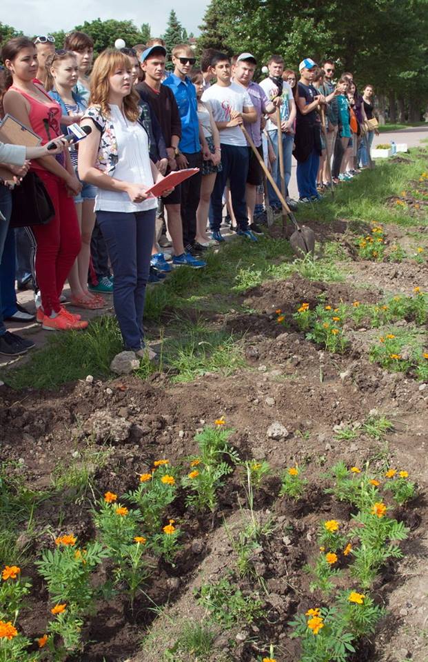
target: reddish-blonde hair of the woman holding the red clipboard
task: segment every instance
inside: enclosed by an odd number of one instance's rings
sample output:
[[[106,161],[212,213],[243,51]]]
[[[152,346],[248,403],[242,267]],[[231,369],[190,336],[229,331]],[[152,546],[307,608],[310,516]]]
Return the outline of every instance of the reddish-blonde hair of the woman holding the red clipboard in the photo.
[[[96,58],[90,79],[90,106],[99,106],[101,112],[110,116],[108,97],[110,94],[109,78],[118,68],[130,69],[128,55],[121,53],[115,48],[108,48]],[[136,122],[140,117],[139,93],[131,88],[130,94],[123,99],[123,112],[131,122]]]

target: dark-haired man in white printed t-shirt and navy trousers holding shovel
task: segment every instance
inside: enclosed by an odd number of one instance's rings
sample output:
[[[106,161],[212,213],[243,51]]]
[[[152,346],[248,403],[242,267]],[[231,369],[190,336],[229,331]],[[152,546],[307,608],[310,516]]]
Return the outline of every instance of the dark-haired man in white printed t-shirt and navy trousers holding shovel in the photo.
[[[207,88],[202,101],[209,101],[212,114],[220,133],[221,165],[223,170],[217,173],[216,183],[211,197],[210,226],[212,238],[224,241],[220,226],[223,211],[223,190],[227,180],[230,182],[232,207],[234,210],[237,232],[241,237],[257,241],[255,234],[248,228],[245,184],[247,181],[249,152],[247,141],[240,126],[245,122],[254,122],[257,113],[249,94],[236,83],[231,82],[230,59],[224,53],[216,53],[211,61],[212,75],[217,82]]]

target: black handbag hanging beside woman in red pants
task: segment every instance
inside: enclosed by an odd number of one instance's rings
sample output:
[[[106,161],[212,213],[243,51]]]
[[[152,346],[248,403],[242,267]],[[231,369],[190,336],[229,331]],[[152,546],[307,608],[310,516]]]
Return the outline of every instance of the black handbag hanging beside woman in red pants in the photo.
[[[10,228],[46,225],[54,215],[54,205],[43,181],[35,172],[28,172],[21,184],[12,190]]]

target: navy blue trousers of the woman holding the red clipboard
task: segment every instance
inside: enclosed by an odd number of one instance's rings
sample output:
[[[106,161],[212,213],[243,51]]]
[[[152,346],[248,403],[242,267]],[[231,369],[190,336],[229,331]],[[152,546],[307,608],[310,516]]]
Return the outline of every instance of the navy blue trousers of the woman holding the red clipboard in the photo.
[[[114,312],[128,350],[144,347],[143,312],[156,209],[96,212],[114,272]]]

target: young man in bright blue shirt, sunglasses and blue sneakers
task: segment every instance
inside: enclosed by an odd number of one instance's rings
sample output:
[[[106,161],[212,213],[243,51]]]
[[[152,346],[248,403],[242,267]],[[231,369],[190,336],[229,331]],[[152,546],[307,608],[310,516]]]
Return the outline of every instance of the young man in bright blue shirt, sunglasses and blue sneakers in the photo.
[[[181,140],[175,159],[179,170],[201,168],[202,152],[199,139],[198,101],[194,85],[188,74],[196,58],[190,46],[180,43],[172,50],[174,72],[163,81],[174,93],[181,119]],[[181,184],[181,220],[183,222],[183,243],[187,252],[193,255],[207,250],[195,243],[196,210],[201,193],[201,172],[186,179]]]

